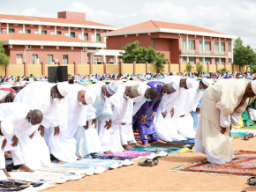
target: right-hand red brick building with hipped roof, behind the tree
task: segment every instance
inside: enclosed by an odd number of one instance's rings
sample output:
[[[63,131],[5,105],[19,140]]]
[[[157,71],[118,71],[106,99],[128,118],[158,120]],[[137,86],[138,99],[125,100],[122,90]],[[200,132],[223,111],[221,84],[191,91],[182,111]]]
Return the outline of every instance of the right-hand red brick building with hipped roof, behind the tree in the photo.
[[[198,26],[161,21],[147,21],[109,33],[108,49],[122,49],[138,40],[142,47],[152,47],[165,54],[170,63],[231,64],[236,36],[215,32]]]

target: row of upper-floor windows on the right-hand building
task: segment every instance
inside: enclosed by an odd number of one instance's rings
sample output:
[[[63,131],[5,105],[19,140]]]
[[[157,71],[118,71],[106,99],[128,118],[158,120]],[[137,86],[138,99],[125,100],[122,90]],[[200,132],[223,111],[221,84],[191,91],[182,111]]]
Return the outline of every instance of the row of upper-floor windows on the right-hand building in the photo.
[[[203,41],[199,42],[200,44],[200,50],[203,50],[203,46],[205,46],[206,51],[211,50],[211,42],[210,41],[205,41],[203,45]],[[221,44],[221,47],[220,47]],[[187,47],[188,46],[188,47]],[[189,49],[189,50],[194,50],[195,49],[195,41],[194,40],[183,40],[183,49]],[[224,42],[215,42],[215,51],[225,51],[225,43]],[[229,43],[229,52],[232,52],[231,48],[231,43]]]

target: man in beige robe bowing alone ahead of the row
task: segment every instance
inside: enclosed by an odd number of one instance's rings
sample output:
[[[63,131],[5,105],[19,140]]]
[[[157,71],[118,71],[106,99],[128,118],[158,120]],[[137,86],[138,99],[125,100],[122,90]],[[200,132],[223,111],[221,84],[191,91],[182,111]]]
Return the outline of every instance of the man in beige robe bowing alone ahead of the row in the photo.
[[[212,164],[223,164],[234,159],[230,125],[237,124],[255,92],[256,81],[248,83],[239,79],[222,80],[207,88],[203,95],[194,151],[206,153],[207,160]]]

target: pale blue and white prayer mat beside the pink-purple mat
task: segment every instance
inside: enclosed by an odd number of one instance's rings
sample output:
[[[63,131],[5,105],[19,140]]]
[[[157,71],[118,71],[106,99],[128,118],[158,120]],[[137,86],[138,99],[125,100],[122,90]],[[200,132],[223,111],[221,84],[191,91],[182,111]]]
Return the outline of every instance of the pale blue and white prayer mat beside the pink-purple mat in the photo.
[[[113,166],[114,164],[119,162],[122,162],[122,161],[112,160],[112,159],[82,159],[72,163],[65,163],[65,164],[57,164],[56,161],[53,161],[52,163],[60,167],[76,167],[76,168],[94,167],[96,168],[97,166],[102,166],[109,169],[110,166]]]

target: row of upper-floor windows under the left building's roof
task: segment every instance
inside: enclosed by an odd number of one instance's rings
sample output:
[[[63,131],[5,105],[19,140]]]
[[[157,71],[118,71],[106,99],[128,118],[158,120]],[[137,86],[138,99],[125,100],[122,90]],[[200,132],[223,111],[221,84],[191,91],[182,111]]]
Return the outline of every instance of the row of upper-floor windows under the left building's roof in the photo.
[[[15,33],[14,29],[9,29],[9,33]],[[19,29],[19,33],[23,33],[23,29]],[[31,33],[30,29],[26,29],[25,33]],[[34,30],[34,33],[38,33],[38,30]],[[46,30],[41,30],[42,34],[47,34]],[[2,34],[2,29],[0,29],[0,34]],[[54,31],[51,31],[50,34],[55,34]],[[56,31],[56,34],[62,34],[61,31]],[[64,32],[65,36],[70,36],[75,38],[75,32],[71,32],[70,34],[68,32]],[[79,40],[85,40],[88,41],[88,33],[79,33]],[[94,41],[94,33],[92,33],[92,41]],[[101,42],[101,33],[96,33],[96,42]]]

